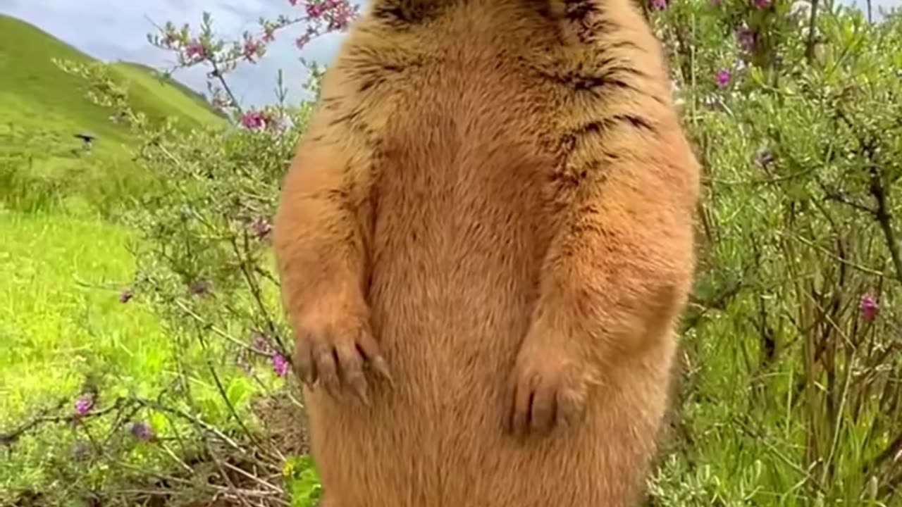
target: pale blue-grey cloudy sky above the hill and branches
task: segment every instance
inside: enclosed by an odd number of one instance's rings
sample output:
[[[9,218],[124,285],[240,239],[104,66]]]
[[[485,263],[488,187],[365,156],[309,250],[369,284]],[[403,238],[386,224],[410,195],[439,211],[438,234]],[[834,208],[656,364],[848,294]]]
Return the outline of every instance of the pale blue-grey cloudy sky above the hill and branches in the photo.
[[[353,0],[357,5],[364,1]],[[865,0],[838,1],[862,8],[865,5]],[[875,15],[879,6],[891,5],[902,5],[902,0],[872,0]],[[0,0],[0,14],[32,23],[97,59],[136,61],[156,69],[168,68],[174,60],[173,55],[147,41],[147,34],[155,32],[154,23],[172,21],[180,26],[187,22],[196,26],[207,11],[213,15],[217,32],[239,38],[244,30],[257,32],[261,16],[274,19],[299,8],[292,7],[288,0]],[[301,85],[308,76],[299,56],[323,64],[335,57],[342,34],[320,36],[298,51],[294,40],[302,28],[293,28],[280,32],[260,63],[240,65],[231,76],[229,86],[244,106],[274,101],[280,68],[285,87],[290,90],[289,100],[299,100],[305,95]],[[180,70],[174,77],[198,91],[207,90],[203,69]]]

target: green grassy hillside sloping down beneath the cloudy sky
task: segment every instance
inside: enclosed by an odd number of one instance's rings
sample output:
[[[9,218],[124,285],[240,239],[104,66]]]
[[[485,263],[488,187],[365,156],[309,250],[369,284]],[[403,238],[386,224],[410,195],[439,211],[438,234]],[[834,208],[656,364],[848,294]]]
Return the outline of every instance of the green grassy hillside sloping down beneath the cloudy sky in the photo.
[[[53,59],[95,61],[30,23],[0,15],[0,206],[113,207],[146,183],[131,162],[135,140],[110,121],[110,109],[85,97],[87,83]],[[132,106],[152,120],[175,116],[185,128],[225,124],[197,93],[152,69],[128,62],[112,67]],[[83,132],[97,136],[90,153],[75,137]]]

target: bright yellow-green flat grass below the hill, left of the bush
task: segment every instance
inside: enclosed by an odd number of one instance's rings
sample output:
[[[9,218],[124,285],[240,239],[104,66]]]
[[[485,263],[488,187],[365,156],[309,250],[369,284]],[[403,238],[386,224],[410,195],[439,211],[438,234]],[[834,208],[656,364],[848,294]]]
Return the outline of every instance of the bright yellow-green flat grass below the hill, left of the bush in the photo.
[[[144,391],[170,347],[148,309],[119,302],[130,232],[77,217],[0,213],[0,428],[78,393],[83,373]],[[147,391],[145,393],[149,393]]]

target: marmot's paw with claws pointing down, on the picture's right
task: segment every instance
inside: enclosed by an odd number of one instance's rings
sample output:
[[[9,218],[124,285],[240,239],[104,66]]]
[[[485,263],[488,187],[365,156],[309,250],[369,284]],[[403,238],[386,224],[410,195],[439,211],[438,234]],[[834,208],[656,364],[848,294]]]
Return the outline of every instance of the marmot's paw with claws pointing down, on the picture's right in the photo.
[[[529,341],[511,376],[508,429],[520,438],[545,435],[582,419],[591,379],[583,361]]]

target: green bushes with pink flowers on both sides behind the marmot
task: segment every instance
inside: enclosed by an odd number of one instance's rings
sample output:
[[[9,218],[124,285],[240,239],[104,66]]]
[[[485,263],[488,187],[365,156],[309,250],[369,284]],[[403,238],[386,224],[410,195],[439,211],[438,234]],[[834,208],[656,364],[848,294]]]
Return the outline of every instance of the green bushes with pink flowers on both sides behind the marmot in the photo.
[[[356,12],[289,3],[302,14],[239,41],[218,39],[208,16],[197,33],[168,23],[151,37],[179,67],[209,69],[225,129],[151,127],[102,68],[67,67],[144,140],[137,163],[159,187],[129,216],[143,237],[119,297],[152,305],[175,351],[156,396],[86,390],[57,417],[127,437],[69,442],[93,456],[78,483],[91,494],[119,498],[110,484],[126,479],[170,500],[308,505],[320,494],[300,424],[272,417],[299,403],[284,388],[290,335],[268,244],[312,105],[244,110],[228,73],[264,58],[290,23],[308,24],[303,46]],[[704,165],[681,382],[648,505],[902,505],[902,15],[871,23],[817,0],[643,6]]]

